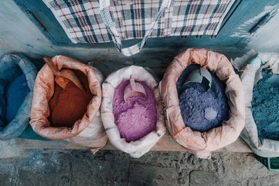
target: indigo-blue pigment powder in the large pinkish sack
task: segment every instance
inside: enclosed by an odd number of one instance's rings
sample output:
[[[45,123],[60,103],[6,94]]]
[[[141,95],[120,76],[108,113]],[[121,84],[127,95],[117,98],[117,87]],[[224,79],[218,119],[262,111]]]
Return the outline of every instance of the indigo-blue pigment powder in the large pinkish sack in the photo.
[[[225,95],[225,84],[211,73],[211,88],[200,83],[190,82],[182,86],[193,70],[198,65],[190,65],[183,71],[176,83],[179,93],[179,107],[186,126],[194,131],[206,132],[214,127],[222,125],[223,121],[229,118],[229,107]]]

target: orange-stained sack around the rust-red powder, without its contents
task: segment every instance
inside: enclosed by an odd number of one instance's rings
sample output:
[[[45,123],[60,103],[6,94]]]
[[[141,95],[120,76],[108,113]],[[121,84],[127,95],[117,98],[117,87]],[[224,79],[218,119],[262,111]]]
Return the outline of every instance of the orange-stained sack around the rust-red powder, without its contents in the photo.
[[[102,148],[107,142],[107,135],[100,119],[99,110],[102,93],[100,82],[102,82],[103,77],[98,77],[89,65],[66,56],[54,56],[52,61],[59,70],[70,68],[84,72],[88,77],[93,98],[82,119],[76,121],[73,127],[50,126],[50,122],[47,120],[47,117],[50,116],[48,102],[54,93],[54,74],[47,65],[44,65],[38,72],[34,85],[30,121],[33,130],[47,139],[66,139],[82,146],[95,149]],[[97,74],[100,74],[100,72]]]

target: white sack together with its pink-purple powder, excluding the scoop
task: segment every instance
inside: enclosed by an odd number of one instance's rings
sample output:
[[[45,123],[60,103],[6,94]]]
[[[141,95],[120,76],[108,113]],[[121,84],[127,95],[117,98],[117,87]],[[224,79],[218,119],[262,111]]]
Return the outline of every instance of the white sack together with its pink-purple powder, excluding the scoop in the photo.
[[[130,76],[144,86],[146,98],[123,100]],[[147,153],[165,134],[158,82],[150,72],[131,65],[107,76],[102,85],[101,114],[110,143],[132,157]]]

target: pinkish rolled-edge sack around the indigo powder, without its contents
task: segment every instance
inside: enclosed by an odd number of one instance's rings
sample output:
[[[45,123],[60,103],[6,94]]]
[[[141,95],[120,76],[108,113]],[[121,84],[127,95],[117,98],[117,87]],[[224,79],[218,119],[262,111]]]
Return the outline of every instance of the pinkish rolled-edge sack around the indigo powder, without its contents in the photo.
[[[208,132],[195,132],[186,127],[181,116],[176,82],[190,64],[199,64],[216,73],[227,84],[225,94],[229,103],[229,119]],[[172,137],[197,157],[208,158],[213,150],[223,148],[239,137],[244,127],[244,98],[239,76],[223,54],[206,49],[187,49],[174,58],[160,82],[167,115],[167,127]]]

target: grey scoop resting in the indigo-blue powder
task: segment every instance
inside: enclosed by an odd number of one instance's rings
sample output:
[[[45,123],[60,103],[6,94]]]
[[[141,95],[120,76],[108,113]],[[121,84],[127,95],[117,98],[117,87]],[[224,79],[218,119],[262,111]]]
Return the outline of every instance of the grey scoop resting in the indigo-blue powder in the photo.
[[[183,86],[186,86],[190,82],[203,84],[204,86],[206,86],[207,91],[209,90],[209,88],[211,88],[212,77],[208,70],[206,70],[205,68],[199,68],[188,75]]]

